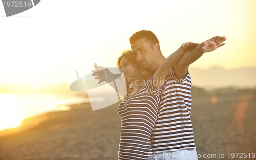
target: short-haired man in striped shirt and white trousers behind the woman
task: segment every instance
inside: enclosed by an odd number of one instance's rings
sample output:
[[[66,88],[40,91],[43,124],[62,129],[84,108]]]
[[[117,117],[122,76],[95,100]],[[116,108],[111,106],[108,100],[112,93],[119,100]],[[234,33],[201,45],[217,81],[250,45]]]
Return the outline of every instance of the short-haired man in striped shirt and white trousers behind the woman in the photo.
[[[139,31],[130,37],[132,51],[140,65],[154,74],[165,60],[159,41],[151,31]],[[197,159],[194,132],[190,120],[191,79],[189,64],[203,53],[223,46],[225,37],[216,36],[187,51],[170,68],[163,84],[163,94],[158,118],[151,134],[151,146],[155,159]]]

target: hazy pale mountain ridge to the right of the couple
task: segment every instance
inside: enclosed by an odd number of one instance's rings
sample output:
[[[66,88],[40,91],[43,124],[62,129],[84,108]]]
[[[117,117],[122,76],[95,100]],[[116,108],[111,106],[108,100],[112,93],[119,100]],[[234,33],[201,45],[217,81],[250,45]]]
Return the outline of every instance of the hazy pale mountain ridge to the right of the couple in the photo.
[[[190,67],[189,73],[194,86],[206,90],[219,87],[251,88],[256,87],[256,67],[226,70],[220,66],[207,70]]]

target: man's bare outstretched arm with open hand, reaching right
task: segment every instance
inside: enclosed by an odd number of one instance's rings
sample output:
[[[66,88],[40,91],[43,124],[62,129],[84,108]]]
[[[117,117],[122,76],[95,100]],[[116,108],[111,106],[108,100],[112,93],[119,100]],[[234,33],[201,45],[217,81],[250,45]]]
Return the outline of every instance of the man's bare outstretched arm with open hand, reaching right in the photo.
[[[216,36],[212,37],[201,44],[198,44],[193,50],[188,50],[180,58],[180,60],[174,65],[175,73],[179,77],[184,77],[187,73],[189,64],[195,62],[205,52],[211,52],[219,47],[222,47],[225,43],[226,37]]]

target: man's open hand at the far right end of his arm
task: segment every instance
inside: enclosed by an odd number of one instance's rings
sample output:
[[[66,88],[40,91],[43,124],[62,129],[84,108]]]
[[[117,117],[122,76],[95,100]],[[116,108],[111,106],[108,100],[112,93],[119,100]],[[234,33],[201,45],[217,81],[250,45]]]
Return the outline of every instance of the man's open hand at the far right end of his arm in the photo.
[[[212,37],[211,39],[208,39],[204,42],[202,42],[199,45],[199,49],[202,50],[202,52],[211,52],[216,50],[217,48],[225,45],[225,43],[222,43],[226,40],[226,37],[221,37],[221,36],[216,36],[216,37]]]

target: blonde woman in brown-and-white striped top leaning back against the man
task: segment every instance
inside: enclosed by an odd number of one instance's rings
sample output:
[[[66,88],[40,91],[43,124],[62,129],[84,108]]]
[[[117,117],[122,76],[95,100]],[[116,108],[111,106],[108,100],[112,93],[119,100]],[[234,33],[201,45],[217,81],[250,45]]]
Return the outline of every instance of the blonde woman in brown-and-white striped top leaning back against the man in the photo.
[[[117,66],[124,74],[127,89],[127,94],[118,106],[122,121],[118,159],[154,159],[150,135],[157,119],[161,85],[169,68],[186,50],[195,47],[194,44],[189,44],[183,44],[170,55],[152,76],[143,70],[132,51],[125,51],[118,58]],[[97,65],[93,72],[94,76],[98,76],[95,79],[99,79],[99,82],[110,82],[115,77]]]

